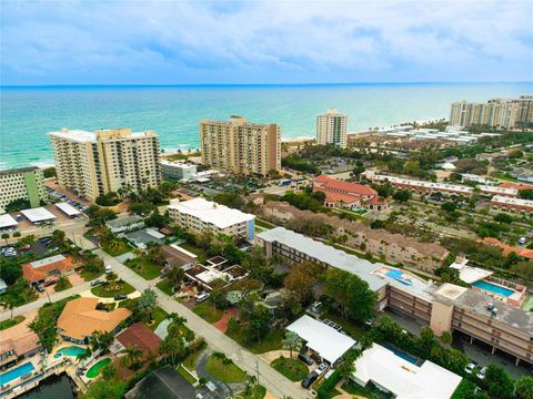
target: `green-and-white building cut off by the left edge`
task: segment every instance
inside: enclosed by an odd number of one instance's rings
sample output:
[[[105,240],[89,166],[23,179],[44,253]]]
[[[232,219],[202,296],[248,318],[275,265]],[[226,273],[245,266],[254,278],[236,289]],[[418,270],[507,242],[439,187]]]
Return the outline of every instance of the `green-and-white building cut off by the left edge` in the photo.
[[[48,202],[42,170],[36,166],[0,171],[0,208],[17,200],[24,200],[30,207]]]

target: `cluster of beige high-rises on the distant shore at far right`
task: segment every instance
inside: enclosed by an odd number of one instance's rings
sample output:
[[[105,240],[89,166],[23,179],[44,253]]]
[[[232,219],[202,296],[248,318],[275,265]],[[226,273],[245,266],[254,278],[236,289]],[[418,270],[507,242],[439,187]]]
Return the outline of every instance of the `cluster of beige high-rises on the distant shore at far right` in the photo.
[[[486,103],[454,102],[450,124],[461,126],[485,125],[512,129],[533,123],[533,96],[492,99]]]

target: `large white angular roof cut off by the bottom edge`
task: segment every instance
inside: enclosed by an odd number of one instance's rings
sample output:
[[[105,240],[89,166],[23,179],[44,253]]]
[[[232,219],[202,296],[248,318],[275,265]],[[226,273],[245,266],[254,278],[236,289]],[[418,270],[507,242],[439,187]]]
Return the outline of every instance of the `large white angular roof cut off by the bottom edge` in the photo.
[[[373,381],[396,399],[449,399],[462,379],[429,360],[413,365],[378,344],[355,361],[352,377],[358,383]]]

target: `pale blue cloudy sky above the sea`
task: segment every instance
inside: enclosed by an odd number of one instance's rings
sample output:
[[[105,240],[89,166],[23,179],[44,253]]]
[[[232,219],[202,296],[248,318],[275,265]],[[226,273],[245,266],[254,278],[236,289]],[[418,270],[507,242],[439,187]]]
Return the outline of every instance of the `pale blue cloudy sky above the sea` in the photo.
[[[533,1],[1,0],[2,85],[533,81]]]

